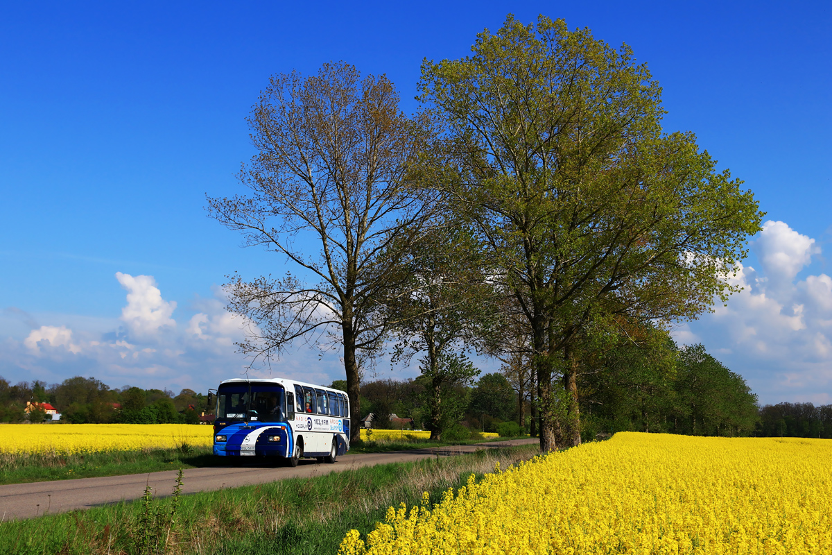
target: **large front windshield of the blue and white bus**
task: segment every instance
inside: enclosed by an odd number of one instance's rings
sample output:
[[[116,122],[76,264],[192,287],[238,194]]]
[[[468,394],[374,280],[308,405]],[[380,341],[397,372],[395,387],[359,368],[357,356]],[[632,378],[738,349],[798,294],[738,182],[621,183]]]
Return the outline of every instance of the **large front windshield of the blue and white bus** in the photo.
[[[220,385],[216,418],[280,422],[286,419],[285,394],[278,384]]]

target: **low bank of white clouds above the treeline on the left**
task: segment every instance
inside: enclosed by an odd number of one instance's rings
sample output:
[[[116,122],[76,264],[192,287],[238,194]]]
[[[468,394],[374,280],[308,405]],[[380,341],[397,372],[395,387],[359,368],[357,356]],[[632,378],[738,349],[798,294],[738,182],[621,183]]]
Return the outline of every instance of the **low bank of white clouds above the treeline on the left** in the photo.
[[[174,391],[205,391],[221,379],[246,372],[252,377],[287,376],[314,384],[343,379],[338,352],[319,357],[303,341],[280,360],[250,367],[251,360],[237,352],[235,341],[256,333],[256,326],[225,310],[227,300],[220,287],[213,288],[213,297],[197,296],[186,308],[189,314],[182,315],[183,325],[177,325],[176,302],[164,299],[153,276],[119,272],[116,280],[127,291],[121,320],[38,314],[49,325],[24,328],[17,332],[19,339],[0,335],[0,372],[7,379],[48,383],[85,375],[111,387],[131,384]],[[8,314],[7,320],[12,317],[17,329],[22,327],[16,314]]]

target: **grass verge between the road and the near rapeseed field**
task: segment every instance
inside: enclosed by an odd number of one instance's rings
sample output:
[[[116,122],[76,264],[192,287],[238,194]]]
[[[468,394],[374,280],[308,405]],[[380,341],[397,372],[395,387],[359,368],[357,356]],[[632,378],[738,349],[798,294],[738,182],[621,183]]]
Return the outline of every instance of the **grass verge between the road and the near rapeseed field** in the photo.
[[[0,553],[335,553],[345,533],[368,533],[390,506],[416,505],[423,492],[437,503],[471,473],[479,477],[495,463],[506,468],[536,453],[535,445],[483,449],[6,522],[0,524]]]

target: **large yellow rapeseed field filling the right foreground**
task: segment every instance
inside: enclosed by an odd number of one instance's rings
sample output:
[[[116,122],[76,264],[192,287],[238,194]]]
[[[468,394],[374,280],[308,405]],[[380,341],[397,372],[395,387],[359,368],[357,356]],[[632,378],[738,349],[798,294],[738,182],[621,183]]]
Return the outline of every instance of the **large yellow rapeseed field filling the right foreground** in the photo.
[[[832,440],[616,434],[389,508],[341,555],[832,553]]]

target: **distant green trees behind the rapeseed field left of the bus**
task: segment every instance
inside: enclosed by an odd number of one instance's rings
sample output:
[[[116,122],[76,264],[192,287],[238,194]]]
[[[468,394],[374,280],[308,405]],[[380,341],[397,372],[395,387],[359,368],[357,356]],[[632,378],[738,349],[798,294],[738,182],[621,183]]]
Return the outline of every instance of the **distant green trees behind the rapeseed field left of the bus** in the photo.
[[[178,395],[166,389],[110,389],[95,378],[82,376],[48,386],[38,380],[12,385],[0,377],[0,422],[42,419],[42,411],[37,410],[27,418],[27,402],[52,404],[62,414],[61,421],[70,424],[196,424],[207,399],[191,389],[182,389]]]

